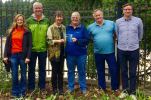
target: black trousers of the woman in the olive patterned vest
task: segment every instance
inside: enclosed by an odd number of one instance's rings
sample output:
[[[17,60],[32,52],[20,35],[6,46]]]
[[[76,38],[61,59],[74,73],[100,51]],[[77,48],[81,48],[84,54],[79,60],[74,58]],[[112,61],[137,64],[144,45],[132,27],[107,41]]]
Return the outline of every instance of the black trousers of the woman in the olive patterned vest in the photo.
[[[60,60],[51,61],[52,66],[52,88],[53,91],[61,91],[63,92],[63,67],[64,67],[64,57],[61,56]]]

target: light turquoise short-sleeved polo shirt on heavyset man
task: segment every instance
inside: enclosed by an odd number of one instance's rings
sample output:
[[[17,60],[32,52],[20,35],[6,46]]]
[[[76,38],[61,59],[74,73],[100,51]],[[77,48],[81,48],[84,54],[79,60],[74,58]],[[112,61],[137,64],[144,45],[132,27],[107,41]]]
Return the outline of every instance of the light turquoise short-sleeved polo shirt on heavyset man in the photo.
[[[115,23],[104,20],[100,26],[96,22],[88,26],[88,31],[94,42],[94,53],[109,54],[114,52]]]

